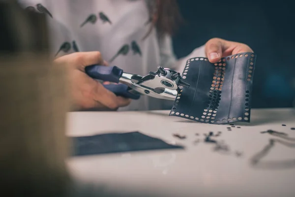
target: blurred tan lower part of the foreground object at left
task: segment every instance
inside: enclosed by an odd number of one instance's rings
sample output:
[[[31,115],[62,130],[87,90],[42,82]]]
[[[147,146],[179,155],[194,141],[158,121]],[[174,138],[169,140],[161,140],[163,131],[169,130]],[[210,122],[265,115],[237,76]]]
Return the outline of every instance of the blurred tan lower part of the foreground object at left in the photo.
[[[33,56],[0,64],[1,186],[12,196],[55,196],[68,179],[64,71]]]

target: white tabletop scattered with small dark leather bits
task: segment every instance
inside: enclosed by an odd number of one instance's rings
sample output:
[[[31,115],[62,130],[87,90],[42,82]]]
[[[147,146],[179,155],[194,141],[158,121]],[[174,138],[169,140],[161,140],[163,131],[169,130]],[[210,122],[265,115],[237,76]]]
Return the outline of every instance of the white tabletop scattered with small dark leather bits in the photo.
[[[157,194],[167,197],[295,197],[295,141],[292,147],[275,144],[261,161],[276,161],[275,167],[253,166],[251,158],[266,147],[270,138],[261,131],[275,130],[295,137],[294,109],[253,109],[251,123],[228,125],[196,123],[168,116],[169,111],[71,112],[69,136],[140,131],[184,150],[73,157],[67,161],[78,180],[105,186],[128,197]],[[286,126],[282,126],[285,124]],[[237,128],[241,127],[241,128]],[[230,147],[229,154],[214,152],[204,133],[222,131],[218,141]],[[173,136],[185,135],[186,139]],[[199,135],[196,135],[198,133]],[[196,140],[199,143],[195,143]],[[241,152],[241,156],[236,155]],[[288,166],[281,161],[291,161]],[[293,163],[292,163],[293,161]]]

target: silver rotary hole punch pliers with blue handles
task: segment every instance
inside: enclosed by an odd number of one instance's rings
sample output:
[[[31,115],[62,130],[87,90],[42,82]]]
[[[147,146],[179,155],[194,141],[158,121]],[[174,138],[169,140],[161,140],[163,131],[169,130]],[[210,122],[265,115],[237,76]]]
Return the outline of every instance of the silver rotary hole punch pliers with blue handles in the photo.
[[[182,91],[181,86],[189,87],[175,70],[161,66],[157,68],[156,72],[149,72],[146,76],[124,72],[117,66],[92,65],[87,66],[85,71],[94,79],[117,83],[106,84],[104,87],[117,96],[130,99],[147,95],[157,99],[175,100]]]

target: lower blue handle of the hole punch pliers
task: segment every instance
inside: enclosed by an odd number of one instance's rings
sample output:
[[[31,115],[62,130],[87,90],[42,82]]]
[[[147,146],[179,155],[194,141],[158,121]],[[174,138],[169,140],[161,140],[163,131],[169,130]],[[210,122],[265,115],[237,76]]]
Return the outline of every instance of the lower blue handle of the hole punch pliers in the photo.
[[[117,96],[130,98],[130,99],[139,99],[139,94],[132,94],[128,91],[128,86],[125,84],[107,84],[103,85],[106,89],[113,92]]]

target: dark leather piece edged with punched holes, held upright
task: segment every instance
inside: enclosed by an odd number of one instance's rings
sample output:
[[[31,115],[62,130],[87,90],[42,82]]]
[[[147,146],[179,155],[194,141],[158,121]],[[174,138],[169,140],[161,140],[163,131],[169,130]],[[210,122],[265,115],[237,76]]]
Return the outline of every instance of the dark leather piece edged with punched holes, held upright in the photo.
[[[250,122],[256,55],[241,53],[212,64],[207,58],[187,60],[170,116],[209,124]]]

